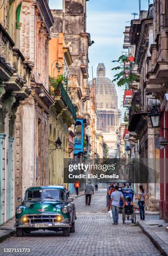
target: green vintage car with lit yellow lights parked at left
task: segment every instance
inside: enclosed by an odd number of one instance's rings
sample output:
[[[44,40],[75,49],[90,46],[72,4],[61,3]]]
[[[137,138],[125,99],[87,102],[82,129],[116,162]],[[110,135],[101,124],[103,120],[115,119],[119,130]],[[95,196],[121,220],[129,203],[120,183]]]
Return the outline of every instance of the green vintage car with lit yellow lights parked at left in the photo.
[[[16,207],[16,236],[39,229],[63,231],[63,236],[75,232],[75,205],[66,187],[30,187],[24,200],[18,197],[18,202],[21,205]]]

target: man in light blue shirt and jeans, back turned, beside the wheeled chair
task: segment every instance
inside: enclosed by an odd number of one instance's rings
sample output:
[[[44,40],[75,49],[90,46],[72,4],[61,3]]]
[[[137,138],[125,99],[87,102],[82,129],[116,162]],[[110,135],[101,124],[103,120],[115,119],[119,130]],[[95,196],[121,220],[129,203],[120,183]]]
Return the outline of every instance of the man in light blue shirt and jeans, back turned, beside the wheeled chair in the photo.
[[[114,220],[113,225],[117,225],[119,221],[119,208],[121,198],[125,204],[125,198],[123,193],[119,191],[119,186],[115,186],[115,191],[111,193],[111,210]]]

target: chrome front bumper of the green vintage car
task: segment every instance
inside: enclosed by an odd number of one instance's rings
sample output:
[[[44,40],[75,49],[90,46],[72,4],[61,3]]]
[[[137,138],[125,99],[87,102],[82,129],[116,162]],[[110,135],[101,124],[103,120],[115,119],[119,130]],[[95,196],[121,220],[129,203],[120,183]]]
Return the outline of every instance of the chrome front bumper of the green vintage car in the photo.
[[[15,228],[36,228],[36,229],[40,229],[35,227],[35,224],[39,224],[39,223],[15,223],[14,227]],[[70,228],[72,225],[71,223],[52,223],[52,222],[48,222],[48,227],[42,228],[42,229],[47,229],[47,228]]]

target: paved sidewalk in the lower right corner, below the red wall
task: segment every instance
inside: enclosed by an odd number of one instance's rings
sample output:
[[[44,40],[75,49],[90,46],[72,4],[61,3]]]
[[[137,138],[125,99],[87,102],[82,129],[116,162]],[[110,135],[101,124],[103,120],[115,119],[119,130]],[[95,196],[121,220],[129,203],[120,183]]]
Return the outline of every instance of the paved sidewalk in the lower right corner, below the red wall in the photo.
[[[138,220],[139,227],[163,255],[168,255],[168,223],[164,220]]]

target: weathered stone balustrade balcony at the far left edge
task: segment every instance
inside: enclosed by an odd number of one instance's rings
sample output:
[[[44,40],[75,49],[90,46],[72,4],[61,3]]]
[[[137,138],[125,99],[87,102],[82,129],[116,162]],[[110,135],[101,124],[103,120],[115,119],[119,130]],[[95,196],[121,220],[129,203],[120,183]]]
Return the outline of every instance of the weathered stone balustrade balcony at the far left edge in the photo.
[[[1,87],[8,92],[15,92],[17,100],[29,97],[30,75],[32,68],[25,61],[19,49],[0,24],[0,80]]]

